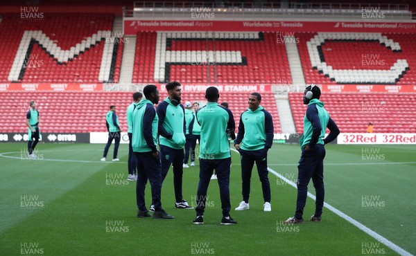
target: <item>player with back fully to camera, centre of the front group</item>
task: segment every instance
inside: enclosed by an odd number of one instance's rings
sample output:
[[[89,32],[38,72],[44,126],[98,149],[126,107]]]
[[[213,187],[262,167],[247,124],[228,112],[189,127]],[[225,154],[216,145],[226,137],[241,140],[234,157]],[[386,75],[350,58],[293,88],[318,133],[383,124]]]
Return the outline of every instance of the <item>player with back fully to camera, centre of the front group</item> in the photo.
[[[231,154],[229,153],[228,136],[234,140],[235,123],[234,116],[229,109],[220,107],[218,89],[211,86],[205,92],[208,103],[196,113],[196,119],[201,125],[200,140],[200,181],[196,198],[195,224],[204,223],[203,214],[207,199],[207,190],[211,175],[216,170],[218,185],[220,186],[221,208],[223,219],[221,224],[236,224],[229,216],[231,203],[229,201],[229,165]]]

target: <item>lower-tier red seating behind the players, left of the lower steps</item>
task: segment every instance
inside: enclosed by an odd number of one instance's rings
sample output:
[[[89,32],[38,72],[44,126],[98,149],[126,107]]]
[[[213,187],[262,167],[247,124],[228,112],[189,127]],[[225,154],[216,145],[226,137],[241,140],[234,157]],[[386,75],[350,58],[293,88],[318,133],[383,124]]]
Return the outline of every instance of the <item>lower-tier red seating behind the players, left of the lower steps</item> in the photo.
[[[8,109],[2,116],[5,120],[0,132],[26,132],[24,118],[28,111],[28,99],[37,102],[40,111],[42,132],[71,132],[87,133],[92,131],[106,131],[105,114],[111,104],[116,105],[117,115],[123,131],[127,131],[125,109],[132,102],[132,93],[118,92],[21,92],[12,91],[1,93],[1,109]],[[163,89],[160,93],[161,101],[167,97]],[[240,115],[248,108],[249,93],[221,93],[220,101],[229,102],[229,109],[234,113],[236,127],[239,125]],[[277,107],[272,92],[262,93],[262,105],[270,112],[275,125],[275,133],[281,132]],[[205,93],[183,93],[182,103],[198,101],[201,106],[207,102]]]

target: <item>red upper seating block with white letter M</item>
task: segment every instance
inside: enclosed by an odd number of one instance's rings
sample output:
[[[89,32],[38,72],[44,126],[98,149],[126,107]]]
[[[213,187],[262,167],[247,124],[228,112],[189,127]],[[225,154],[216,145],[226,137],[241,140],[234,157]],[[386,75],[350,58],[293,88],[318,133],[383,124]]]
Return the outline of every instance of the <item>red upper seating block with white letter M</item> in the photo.
[[[117,81],[123,50],[112,38],[114,15],[47,14],[0,23],[0,82]],[[120,44],[119,44],[120,43]]]

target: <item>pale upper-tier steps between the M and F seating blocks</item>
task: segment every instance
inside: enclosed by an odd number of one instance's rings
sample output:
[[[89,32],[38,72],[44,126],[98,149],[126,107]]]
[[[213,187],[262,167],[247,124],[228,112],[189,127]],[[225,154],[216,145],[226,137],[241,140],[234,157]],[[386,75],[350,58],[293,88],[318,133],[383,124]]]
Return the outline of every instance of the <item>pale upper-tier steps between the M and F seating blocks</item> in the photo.
[[[125,37],[126,41],[123,49],[123,59],[121,60],[120,82],[128,83],[132,82],[133,68],[135,67],[135,51],[137,36]],[[128,42],[127,42],[128,39]]]

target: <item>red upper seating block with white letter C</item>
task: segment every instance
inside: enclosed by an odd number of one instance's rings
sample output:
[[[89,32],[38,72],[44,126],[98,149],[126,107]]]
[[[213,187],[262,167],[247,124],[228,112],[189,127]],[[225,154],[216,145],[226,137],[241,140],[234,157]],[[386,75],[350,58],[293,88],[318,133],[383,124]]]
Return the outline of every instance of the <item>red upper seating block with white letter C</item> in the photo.
[[[297,33],[306,84],[413,84],[415,35]],[[403,53],[404,52],[404,53]]]

